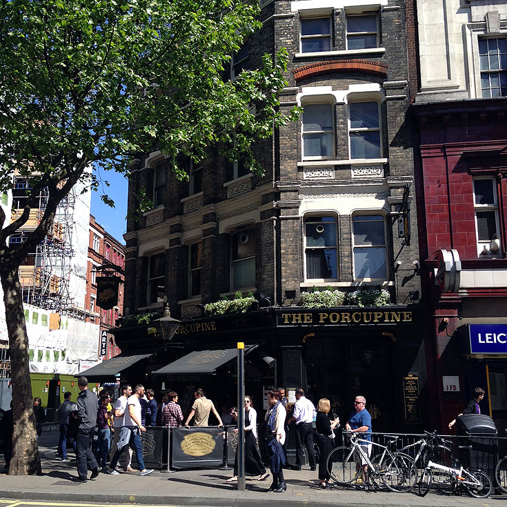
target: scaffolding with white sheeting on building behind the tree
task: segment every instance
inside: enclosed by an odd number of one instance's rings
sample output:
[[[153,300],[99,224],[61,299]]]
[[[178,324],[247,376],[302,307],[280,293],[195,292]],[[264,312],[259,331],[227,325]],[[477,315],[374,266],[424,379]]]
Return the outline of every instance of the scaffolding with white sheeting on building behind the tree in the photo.
[[[14,178],[12,192],[12,221],[23,212],[26,199],[32,188],[28,179]],[[39,193],[36,207],[30,209],[28,221],[10,237],[12,248],[21,245],[27,235],[34,231],[41,222],[48,203],[48,190]],[[19,267],[19,281],[23,295],[23,302],[51,310],[52,312],[68,314],[73,310],[73,298],[70,295],[72,224],[74,222],[75,190],[62,199],[55,212],[53,222],[46,237],[37,245],[34,252],[30,252]]]

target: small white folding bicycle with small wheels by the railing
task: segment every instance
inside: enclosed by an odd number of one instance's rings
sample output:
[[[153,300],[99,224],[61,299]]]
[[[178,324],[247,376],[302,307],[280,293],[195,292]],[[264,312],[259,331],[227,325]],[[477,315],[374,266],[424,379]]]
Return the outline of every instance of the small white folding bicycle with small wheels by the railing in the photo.
[[[464,488],[470,495],[475,498],[487,498],[493,484],[489,476],[481,470],[468,471],[466,468],[452,468],[444,466],[433,461],[428,461],[428,466],[424,469],[424,473],[419,481],[419,495],[424,497],[428,494],[433,483],[433,470],[441,470],[451,477],[453,493],[459,488]]]

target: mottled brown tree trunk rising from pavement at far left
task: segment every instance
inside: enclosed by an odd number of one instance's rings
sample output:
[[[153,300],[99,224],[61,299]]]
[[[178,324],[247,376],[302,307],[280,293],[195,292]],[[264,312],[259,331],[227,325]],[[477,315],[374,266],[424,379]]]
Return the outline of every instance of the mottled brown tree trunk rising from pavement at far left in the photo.
[[[30,383],[28,336],[26,335],[18,266],[2,262],[1,257],[0,279],[3,287],[3,301],[6,305],[9,335],[12,416],[14,420],[9,475],[41,475],[41,459],[37,446],[32,384]]]

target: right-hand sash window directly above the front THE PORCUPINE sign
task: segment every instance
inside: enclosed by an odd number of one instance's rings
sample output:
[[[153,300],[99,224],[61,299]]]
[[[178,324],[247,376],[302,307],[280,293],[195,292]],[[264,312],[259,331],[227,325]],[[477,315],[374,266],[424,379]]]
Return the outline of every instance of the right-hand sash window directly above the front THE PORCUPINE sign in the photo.
[[[354,278],[387,278],[386,221],[382,215],[355,215],[352,218],[354,239]]]

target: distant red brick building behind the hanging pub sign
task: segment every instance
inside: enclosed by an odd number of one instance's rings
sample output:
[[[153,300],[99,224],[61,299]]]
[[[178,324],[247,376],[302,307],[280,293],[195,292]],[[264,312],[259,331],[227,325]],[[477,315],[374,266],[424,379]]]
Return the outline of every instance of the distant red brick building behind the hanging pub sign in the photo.
[[[88,243],[88,268],[86,273],[86,308],[89,315],[87,321],[100,324],[101,346],[99,354],[103,359],[110,359],[118,355],[121,350],[116,346],[115,337],[108,334],[110,328],[116,326],[116,321],[123,315],[123,290],[125,277],[124,246],[112,237],[90,215],[90,239]],[[114,275],[120,277],[118,289],[118,303],[109,310],[97,305],[97,278]]]

